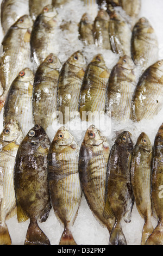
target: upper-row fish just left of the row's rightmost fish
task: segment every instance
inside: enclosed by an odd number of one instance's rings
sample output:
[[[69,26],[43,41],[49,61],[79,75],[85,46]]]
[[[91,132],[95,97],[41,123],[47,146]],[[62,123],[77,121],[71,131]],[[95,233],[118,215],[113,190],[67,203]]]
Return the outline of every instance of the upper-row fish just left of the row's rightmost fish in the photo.
[[[109,21],[109,36],[112,52],[119,54],[120,57],[124,55],[130,57],[131,35],[131,28],[128,22],[116,11],[112,11]]]

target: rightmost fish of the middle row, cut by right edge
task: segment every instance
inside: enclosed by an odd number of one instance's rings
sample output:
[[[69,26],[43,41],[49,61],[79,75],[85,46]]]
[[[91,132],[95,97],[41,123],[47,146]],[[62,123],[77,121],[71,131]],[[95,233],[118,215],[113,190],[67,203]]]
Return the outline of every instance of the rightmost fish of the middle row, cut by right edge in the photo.
[[[159,60],[142,74],[131,103],[131,119],[152,119],[163,104],[163,60]]]

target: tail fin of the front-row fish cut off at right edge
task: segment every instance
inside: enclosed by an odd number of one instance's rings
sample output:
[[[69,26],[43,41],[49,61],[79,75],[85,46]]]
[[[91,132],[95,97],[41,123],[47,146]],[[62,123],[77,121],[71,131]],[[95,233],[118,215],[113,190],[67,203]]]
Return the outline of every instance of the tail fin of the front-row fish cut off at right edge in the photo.
[[[148,237],[146,245],[163,245],[163,224],[161,222]]]

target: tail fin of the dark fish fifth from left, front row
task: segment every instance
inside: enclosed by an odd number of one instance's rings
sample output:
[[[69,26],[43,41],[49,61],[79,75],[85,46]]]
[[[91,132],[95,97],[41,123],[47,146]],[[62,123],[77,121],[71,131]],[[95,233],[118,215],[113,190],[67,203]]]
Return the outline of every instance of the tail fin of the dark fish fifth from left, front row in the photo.
[[[109,245],[127,245],[121,223],[116,223],[110,234]]]

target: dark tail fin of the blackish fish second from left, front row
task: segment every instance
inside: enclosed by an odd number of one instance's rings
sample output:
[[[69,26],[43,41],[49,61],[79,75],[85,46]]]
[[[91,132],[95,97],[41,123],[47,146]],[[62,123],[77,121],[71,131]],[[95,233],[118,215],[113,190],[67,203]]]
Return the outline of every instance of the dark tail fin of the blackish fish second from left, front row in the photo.
[[[24,245],[51,245],[48,237],[39,228],[37,222],[30,222]]]

